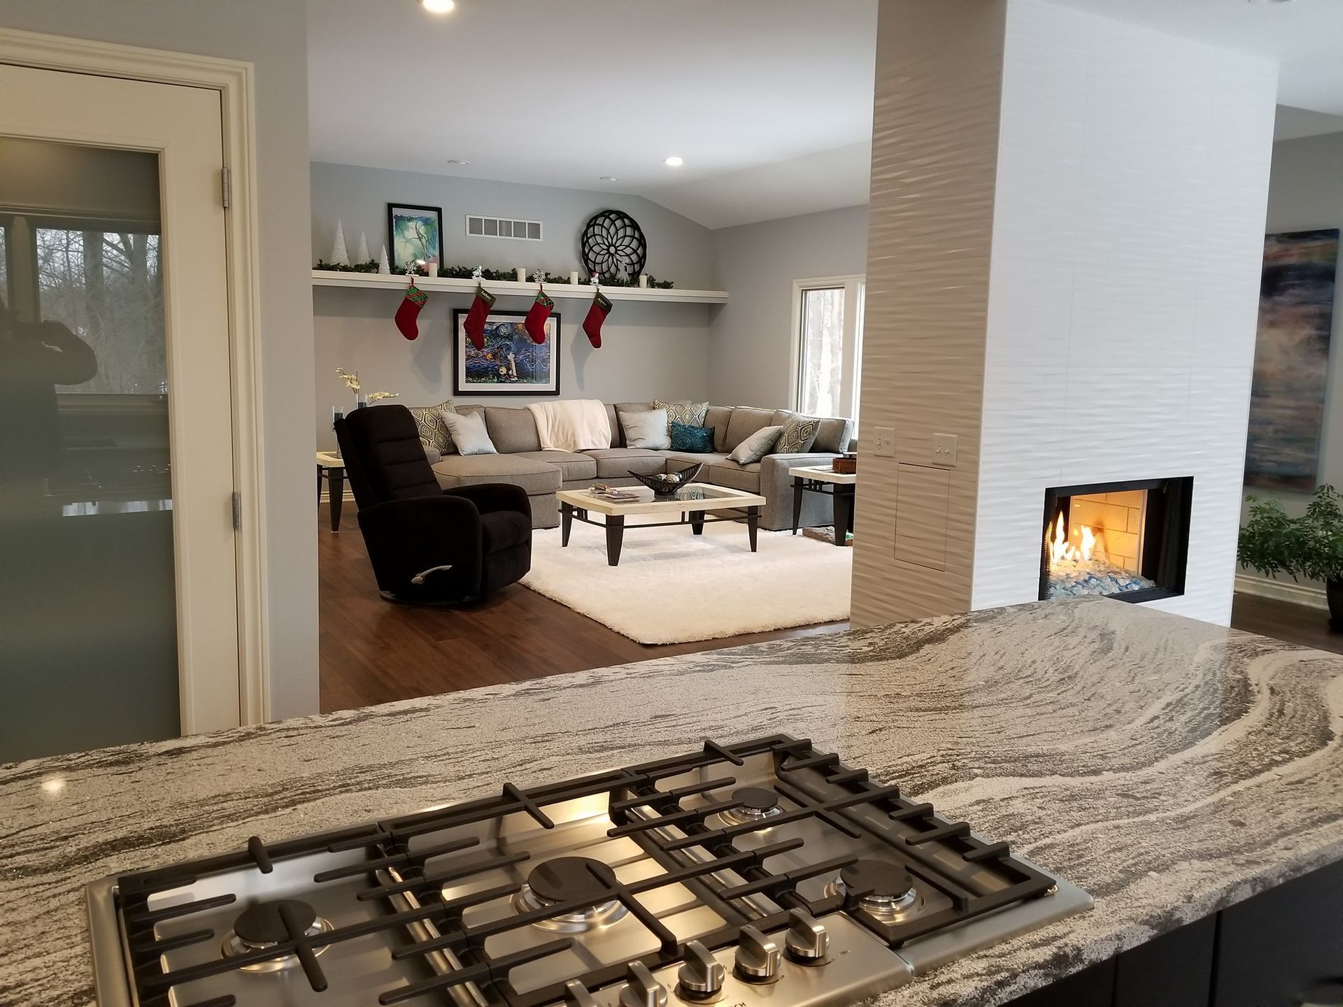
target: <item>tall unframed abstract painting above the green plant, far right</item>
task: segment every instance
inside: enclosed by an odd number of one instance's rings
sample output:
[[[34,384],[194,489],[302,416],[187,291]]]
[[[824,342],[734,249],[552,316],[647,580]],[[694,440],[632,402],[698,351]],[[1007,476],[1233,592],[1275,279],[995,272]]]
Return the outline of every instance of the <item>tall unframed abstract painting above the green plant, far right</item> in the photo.
[[[1338,256],[1338,228],[1270,234],[1264,242],[1245,451],[1249,486],[1315,489]]]

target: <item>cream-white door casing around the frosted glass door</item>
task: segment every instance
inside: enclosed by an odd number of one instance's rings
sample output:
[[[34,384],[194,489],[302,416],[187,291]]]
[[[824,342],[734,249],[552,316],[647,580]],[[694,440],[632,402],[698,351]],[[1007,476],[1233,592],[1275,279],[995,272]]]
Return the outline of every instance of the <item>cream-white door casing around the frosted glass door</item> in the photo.
[[[224,164],[228,177],[224,211],[228,260],[228,332],[232,364],[234,487],[239,494],[238,667],[239,721],[270,720],[270,659],[266,647],[266,509],[261,438],[261,305],[258,290],[257,129],[252,64],[214,56],[67,39],[0,28],[0,63],[64,70],[132,81],[204,87],[219,91],[223,113]],[[224,172],[227,171],[227,176]],[[181,674],[191,678],[189,666]],[[183,733],[193,732],[188,717]]]

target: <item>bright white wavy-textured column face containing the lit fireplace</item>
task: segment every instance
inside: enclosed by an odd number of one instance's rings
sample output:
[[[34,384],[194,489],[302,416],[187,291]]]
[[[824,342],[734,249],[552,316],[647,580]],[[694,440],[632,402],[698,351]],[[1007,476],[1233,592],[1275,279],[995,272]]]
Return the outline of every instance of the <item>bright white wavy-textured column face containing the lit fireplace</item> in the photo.
[[[1046,486],[1193,475],[1186,593],[1152,604],[1225,623],[1276,67],[1041,0],[1007,39],[974,604],[1037,596]],[[1060,369],[1062,305],[1031,301],[1065,277]]]

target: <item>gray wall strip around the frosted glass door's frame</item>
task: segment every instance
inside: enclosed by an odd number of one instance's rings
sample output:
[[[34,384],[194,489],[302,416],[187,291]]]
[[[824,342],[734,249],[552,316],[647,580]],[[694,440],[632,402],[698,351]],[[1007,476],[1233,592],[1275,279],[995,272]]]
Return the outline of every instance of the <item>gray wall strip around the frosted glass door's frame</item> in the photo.
[[[5,0],[0,26],[193,52],[257,68],[262,419],[271,710],[317,710],[308,26],[302,0]]]

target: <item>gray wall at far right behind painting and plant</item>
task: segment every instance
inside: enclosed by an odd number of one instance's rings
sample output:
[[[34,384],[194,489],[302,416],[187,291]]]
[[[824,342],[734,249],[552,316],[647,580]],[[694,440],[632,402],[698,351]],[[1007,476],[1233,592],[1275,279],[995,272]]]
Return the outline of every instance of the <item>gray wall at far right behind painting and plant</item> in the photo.
[[[1273,172],[1268,189],[1269,234],[1343,228],[1343,133],[1273,145]],[[1320,432],[1319,482],[1343,489],[1343,289],[1334,303],[1334,334],[1324,392],[1324,423]],[[1246,486],[1246,493],[1283,501],[1289,514],[1305,512],[1309,494],[1276,493]],[[1246,571],[1250,576],[1258,576]],[[1291,584],[1291,577],[1284,580]]]

